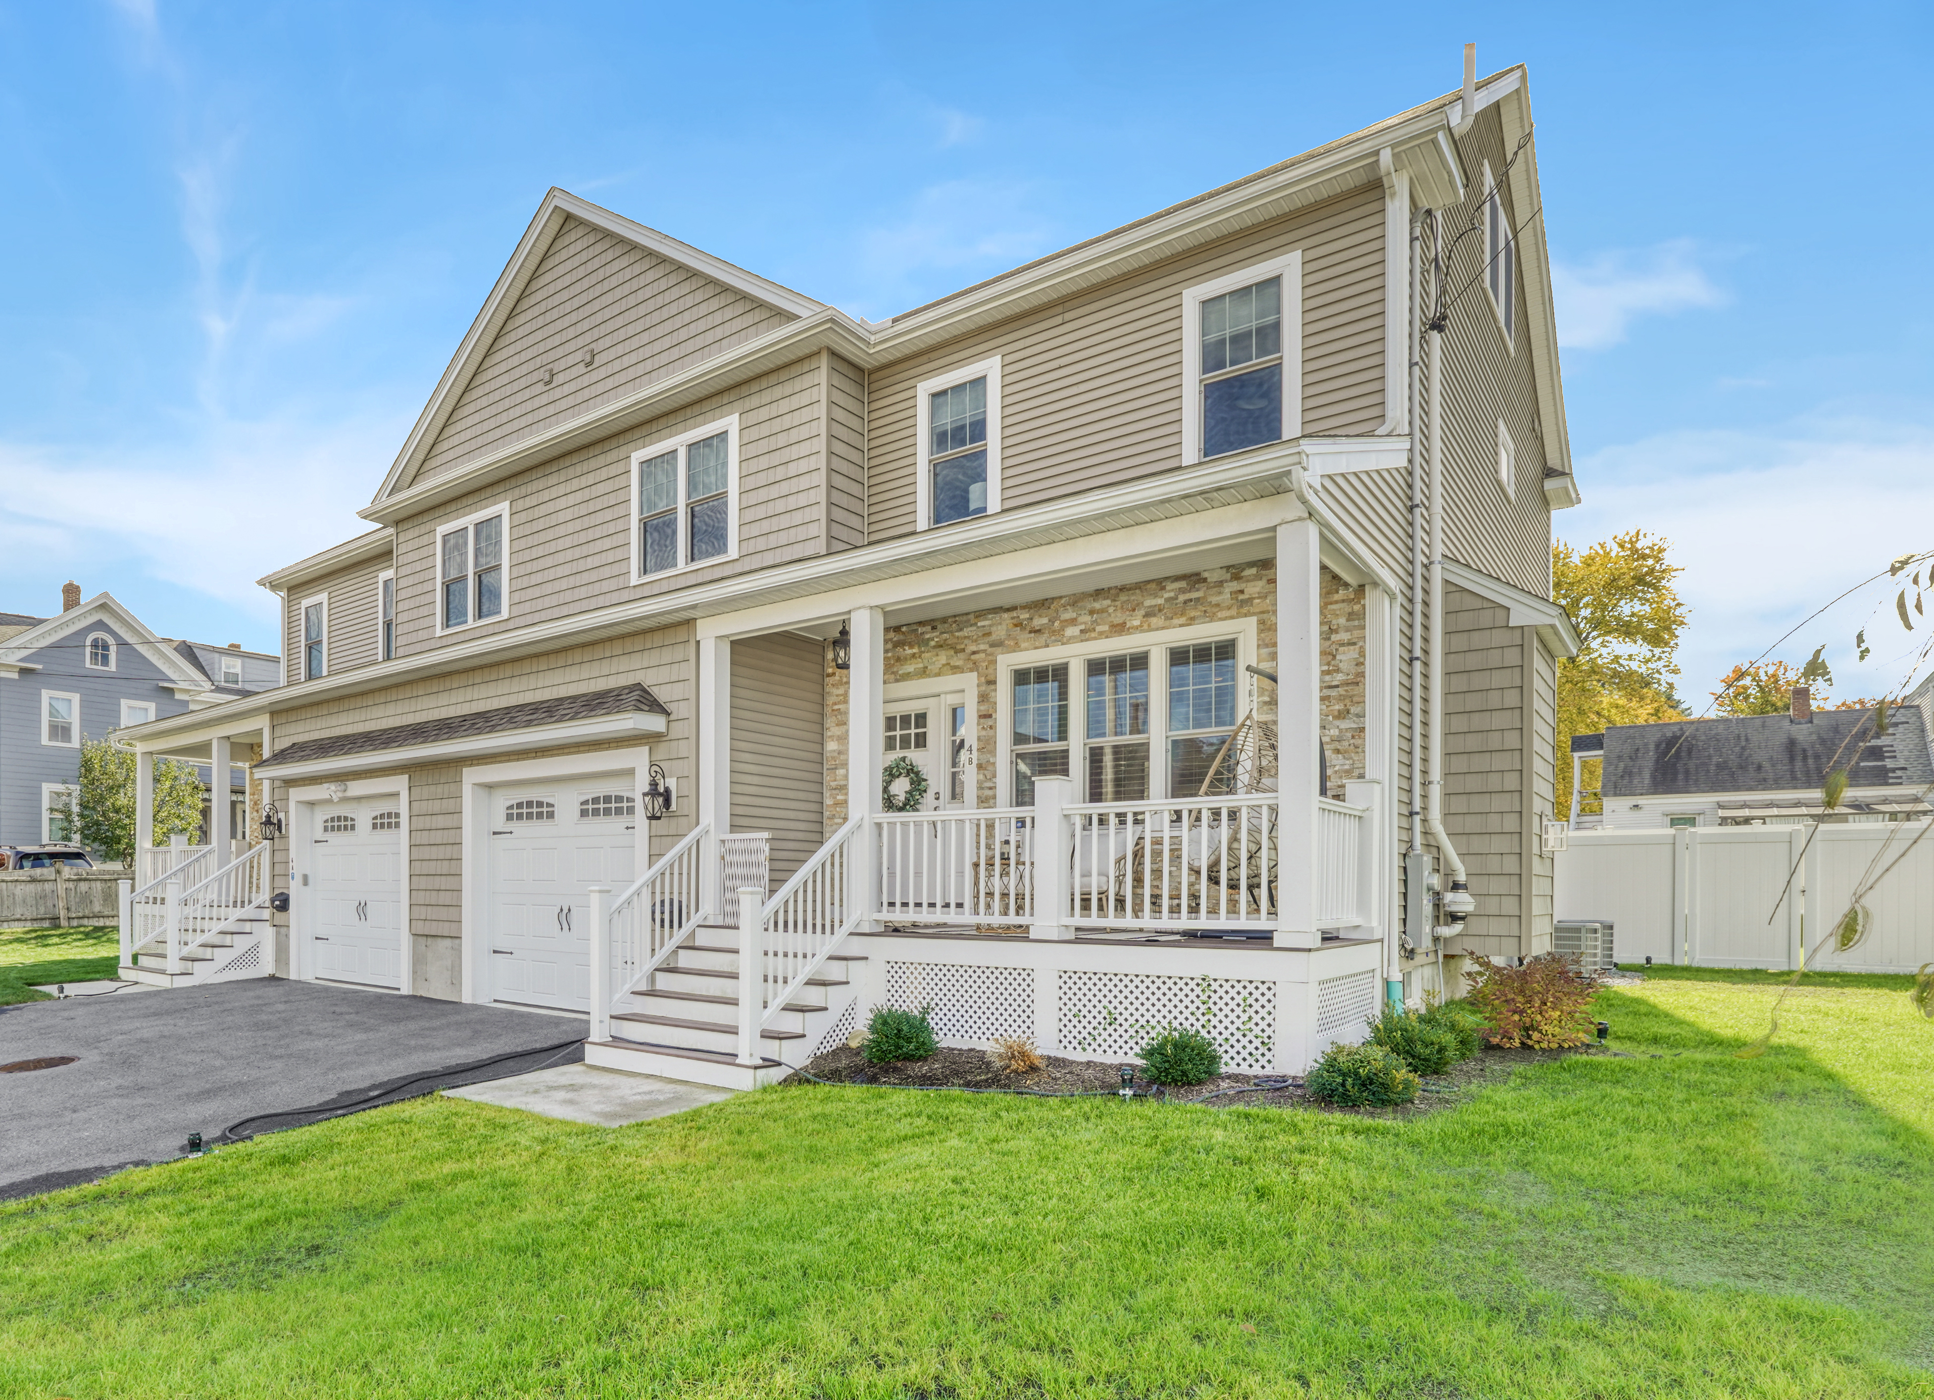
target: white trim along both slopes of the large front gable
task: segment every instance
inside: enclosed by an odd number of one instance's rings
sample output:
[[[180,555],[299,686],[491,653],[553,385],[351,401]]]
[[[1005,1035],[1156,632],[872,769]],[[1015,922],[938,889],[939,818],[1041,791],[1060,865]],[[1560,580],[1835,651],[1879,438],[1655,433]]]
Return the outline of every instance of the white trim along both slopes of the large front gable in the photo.
[[[636,244],[638,248],[658,253],[659,257],[681,263],[694,273],[710,277],[714,282],[723,282],[725,286],[793,317],[812,315],[814,311],[826,309],[810,296],[801,296],[787,286],[779,286],[777,282],[758,277],[756,273],[735,267],[723,257],[716,257],[700,248],[692,248],[690,244],[681,244],[669,234],[646,228],[640,222],[615,215],[609,209],[551,186],[551,190],[543,195],[543,203],[538,205],[538,213],[532,217],[524,236],[518,240],[516,249],[511,253],[511,261],[505,263],[503,273],[497,277],[497,284],[491,286],[489,296],[484,298],[484,309],[478,311],[476,321],[470,323],[470,331],[464,333],[462,342],[456,346],[456,354],[451,356],[449,367],[445,367],[443,377],[437,381],[437,389],[429,394],[429,402],[424,404],[424,412],[410,429],[410,437],[404,441],[395,464],[391,464],[389,476],[383,478],[383,485],[375,493],[377,501],[406,487],[414,480],[416,470],[424,464],[431,445],[437,441],[437,433],[449,422],[456,402],[464,394],[464,389],[470,387],[472,377],[482,367],[491,344],[497,340],[497,333],[503,331],[505,321],[509,321],[511,311],[516,307],[516,300],[530,282],[532,273],[538,271],[538,263],[543,261],[543,253],[549,251],[557,234],[571,219],[578,219],[629,244]]]

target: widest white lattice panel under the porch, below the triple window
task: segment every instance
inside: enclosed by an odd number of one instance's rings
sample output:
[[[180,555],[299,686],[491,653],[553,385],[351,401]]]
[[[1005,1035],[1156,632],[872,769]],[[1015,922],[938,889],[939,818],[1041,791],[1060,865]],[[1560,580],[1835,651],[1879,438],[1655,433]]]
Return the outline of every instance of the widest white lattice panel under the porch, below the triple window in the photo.
[[[1060,978],[1060,1044],[1091,1056],[1133,1060],[1151,1036],[1201,1031],[1228,1069],[1275,1062],[1276,984],[1226,977],[1071,973]]]

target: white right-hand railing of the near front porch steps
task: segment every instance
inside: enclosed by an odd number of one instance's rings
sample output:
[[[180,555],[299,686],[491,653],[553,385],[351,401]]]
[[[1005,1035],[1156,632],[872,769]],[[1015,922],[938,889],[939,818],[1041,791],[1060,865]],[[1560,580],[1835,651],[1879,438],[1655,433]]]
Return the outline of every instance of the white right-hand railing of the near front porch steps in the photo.
[[[739,1064],[760,1064],[758,1036],[777,1019],[853,926],[870,917],[874,891],[853,890],[866,818],[855,816],[812,853],[762,909],[756,886],[735,891],[739,913]]]

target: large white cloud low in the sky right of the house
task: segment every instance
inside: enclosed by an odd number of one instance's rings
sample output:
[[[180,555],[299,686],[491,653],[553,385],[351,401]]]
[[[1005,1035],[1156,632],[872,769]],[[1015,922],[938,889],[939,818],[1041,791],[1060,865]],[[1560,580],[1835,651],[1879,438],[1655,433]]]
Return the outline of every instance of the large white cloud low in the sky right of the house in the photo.
[[[1590,454],[1578,478],[1584,507],[1555,522],[1565,540],[1634,526],[1671,540],[1692,611],[1681,694],[1700,704],[1735,661],[1895,555],[1934,547],[1934,429],[1924,425],[1822,416],[1764,433],[1659,433]],[[1886,617],[1868,632],[1886,644],[1864,667],[1851,648],[1876,611],[1891,615],[1882,592],[1810,625],[1787,644],[1789,659],[1828,644],[1837,694],[1897,685],[1905,636]]]

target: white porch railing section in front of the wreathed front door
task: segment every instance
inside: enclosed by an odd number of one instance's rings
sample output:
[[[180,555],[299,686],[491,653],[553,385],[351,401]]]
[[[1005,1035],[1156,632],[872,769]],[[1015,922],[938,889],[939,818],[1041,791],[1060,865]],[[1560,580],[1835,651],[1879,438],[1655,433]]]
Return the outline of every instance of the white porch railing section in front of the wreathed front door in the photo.
[[[880,917],[913,922],[1031,922],[1035,812],[874,816]]]

